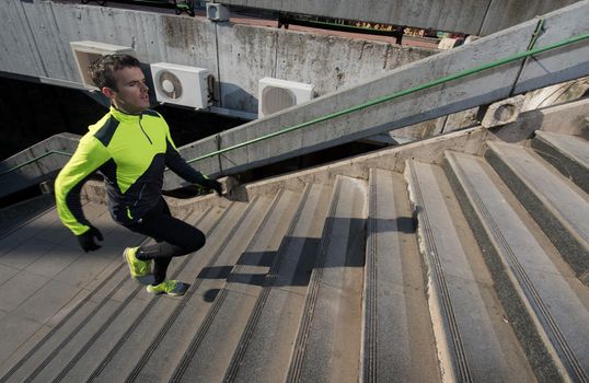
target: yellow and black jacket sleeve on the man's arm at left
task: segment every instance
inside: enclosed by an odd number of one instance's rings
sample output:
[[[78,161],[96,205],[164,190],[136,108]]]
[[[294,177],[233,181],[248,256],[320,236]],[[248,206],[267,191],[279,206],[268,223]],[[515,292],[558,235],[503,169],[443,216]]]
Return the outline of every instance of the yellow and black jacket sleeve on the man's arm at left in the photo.
[[[80,140],[70,161],[55,181],[55,200],[61,222],[76,235],[85,233],[90,227],[82,211],[80,190],[89,176],[111,159],[106,148],[92,135]]]

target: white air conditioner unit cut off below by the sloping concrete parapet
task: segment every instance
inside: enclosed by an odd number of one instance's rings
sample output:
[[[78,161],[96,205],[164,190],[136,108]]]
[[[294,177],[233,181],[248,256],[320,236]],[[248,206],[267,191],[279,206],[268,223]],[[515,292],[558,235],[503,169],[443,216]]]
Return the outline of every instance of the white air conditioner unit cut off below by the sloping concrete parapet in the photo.
[[[264,78],[258,82],[257,116],[286,109],[313,98],[315,85],[302,82]]]

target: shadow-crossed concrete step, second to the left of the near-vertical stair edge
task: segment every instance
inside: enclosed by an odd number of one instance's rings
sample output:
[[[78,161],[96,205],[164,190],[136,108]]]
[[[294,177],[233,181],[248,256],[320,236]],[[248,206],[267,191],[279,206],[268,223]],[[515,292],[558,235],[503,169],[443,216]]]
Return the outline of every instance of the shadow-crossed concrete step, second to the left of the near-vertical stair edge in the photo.
[[[284,382],[332,187],[308,185],[223,382]]]

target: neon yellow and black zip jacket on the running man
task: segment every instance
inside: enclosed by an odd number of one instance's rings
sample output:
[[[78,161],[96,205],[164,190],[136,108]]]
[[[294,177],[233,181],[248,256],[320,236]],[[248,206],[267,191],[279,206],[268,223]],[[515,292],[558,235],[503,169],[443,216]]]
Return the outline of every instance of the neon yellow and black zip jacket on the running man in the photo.
[[[55,182],[58,214],[76,235],[89,230],[80,190],[95,171],[104,175],[111,216],[123,224],[137,222],[155,206],[165,166],[188,182],[207,182],[180,155],[157,112],[128,115],[111,106],[89,130]]]

